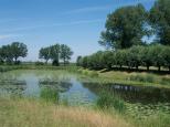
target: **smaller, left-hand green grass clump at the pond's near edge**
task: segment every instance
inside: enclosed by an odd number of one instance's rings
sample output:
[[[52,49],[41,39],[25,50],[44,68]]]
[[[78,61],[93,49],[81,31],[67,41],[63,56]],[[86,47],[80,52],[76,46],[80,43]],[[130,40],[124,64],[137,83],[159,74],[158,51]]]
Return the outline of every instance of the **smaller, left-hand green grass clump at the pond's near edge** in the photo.
[[[59,103],[60,96],[59,93],[55,89],[52,88],[42,88],[40,93],[41,99],[45,102],[51,103]]]

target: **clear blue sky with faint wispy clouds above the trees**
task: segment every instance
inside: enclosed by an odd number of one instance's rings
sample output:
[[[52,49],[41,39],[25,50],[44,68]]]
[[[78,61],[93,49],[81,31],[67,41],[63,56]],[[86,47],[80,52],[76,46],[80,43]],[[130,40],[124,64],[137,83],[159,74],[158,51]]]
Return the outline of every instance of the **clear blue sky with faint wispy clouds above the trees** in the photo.
[[[0,0],[0,46],[14,41],[28,45],[25,61],[38,61],[42,46],[64,43],[74,55],[88,55],[98,44],[107,14],[121,6],[155,0]]]

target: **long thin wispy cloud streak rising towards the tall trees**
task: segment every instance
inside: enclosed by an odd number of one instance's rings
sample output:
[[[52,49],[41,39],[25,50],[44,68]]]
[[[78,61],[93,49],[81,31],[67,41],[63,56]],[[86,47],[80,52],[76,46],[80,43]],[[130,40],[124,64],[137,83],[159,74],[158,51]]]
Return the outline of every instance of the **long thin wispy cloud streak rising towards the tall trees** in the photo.
[[[34,30],[41,28],[51,28],[51,27],[63,27],[63,25],[78,25],[78,24],[86,24],[86,23],[99,23],[104,22],[103,19],[95,19],[95,20],[79,20],[73,22],[65,22],[65,23],[47,23],[42,25],[32,25],[32,27],[21,27],[17,29],[9,29],[9,30],[1,30],[2,32],[15,32],[15,31],[26,31],[26,30]]]

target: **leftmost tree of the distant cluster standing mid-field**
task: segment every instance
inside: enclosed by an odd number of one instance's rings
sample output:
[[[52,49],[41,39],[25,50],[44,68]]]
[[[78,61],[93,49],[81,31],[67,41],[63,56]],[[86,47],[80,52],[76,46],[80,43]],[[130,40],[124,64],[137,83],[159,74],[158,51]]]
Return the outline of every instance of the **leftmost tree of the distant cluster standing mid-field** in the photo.
[[[51,49],[50,47],[42,47],[39,52],[39,57],[45,60],[45,64],[47,64],[47,61],[51,59]]]

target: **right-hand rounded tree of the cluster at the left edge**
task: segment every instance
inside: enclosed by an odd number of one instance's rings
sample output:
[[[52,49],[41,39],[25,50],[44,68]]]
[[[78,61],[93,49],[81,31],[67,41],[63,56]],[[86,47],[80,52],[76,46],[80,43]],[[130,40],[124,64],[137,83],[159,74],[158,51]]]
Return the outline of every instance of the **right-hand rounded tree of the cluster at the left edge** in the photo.
[[[14,63],[17,63],[19,57],[25,57],[28,54],[26,45],[20,42],[13,42],[11,44],[11,52],[14,59]]]

